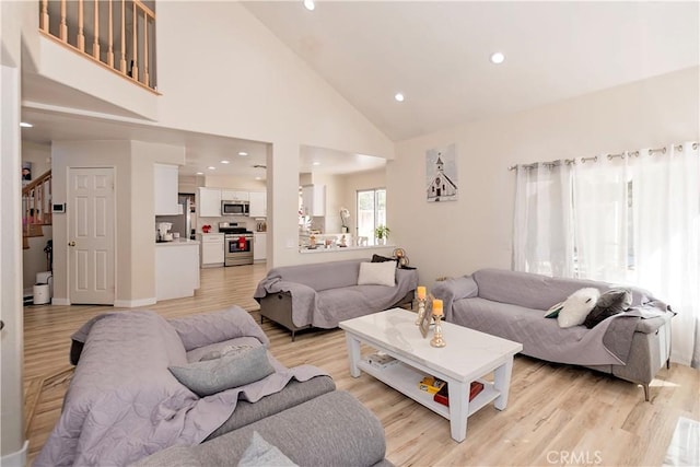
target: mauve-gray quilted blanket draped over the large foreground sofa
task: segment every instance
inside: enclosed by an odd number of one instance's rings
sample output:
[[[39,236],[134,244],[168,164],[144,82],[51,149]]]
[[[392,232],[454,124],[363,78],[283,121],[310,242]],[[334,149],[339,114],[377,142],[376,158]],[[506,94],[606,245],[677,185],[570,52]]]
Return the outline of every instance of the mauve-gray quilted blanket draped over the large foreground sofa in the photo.
[[[270,358],[276,372],[268,377],[200,398],[167,370],[187,364],[186,350],[158,314],[107,313],[81,331],[86,339],[80,364],[37,467],[121,466],[175,444],[200,443],[233,413],[238,398],[257,401],[292,378],[325,374],[311,365],[287,369]]]

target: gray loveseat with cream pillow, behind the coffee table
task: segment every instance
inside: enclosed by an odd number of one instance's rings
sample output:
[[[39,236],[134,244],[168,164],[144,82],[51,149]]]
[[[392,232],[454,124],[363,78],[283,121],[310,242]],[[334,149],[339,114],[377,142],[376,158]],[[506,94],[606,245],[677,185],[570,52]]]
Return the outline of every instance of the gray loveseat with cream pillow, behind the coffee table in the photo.
[[[284,326],[294,340],[300,329],[330,329],[345,319],[410,303],[417,285],[418,271],[396,268],[396,261],[350,259],[270,269],[254,297],[260,319]]]

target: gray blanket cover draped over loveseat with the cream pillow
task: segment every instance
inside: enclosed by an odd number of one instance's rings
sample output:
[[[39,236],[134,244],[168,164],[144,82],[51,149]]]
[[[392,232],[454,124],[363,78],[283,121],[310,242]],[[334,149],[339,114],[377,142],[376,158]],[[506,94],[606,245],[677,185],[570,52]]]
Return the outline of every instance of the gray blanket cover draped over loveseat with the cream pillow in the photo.
[[[361,261],[302,265],[268,272],[253,295],[290,292],[292,322],[298,327],[335,328],[343,319],[386,310],[418,285],[415,270],[396,269],[396,285],[358,285]]]

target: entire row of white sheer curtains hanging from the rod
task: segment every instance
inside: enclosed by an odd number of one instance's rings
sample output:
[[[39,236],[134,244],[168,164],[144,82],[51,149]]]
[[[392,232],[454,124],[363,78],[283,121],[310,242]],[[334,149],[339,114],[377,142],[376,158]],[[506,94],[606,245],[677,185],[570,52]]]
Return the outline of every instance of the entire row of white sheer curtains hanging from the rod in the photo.
[[[700,367],[700,156],[693,142],[517,166],[513,269],[629,283],[678,314],[672,359]]]

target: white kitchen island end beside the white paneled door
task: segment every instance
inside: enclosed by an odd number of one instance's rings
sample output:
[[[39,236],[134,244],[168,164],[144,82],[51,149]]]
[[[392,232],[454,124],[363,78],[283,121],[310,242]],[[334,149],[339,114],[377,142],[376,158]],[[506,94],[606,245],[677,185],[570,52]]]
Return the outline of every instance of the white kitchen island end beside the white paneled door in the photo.
[[[199,241],[155,244],[155,299],[182,299],[199,289]]]

